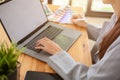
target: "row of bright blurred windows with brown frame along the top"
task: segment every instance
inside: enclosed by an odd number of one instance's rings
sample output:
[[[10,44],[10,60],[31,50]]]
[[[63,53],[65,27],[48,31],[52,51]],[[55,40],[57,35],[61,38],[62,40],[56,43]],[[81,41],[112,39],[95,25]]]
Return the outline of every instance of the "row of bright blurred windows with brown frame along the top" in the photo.
[[[83,7],[86,16],[111,17],[113,9],[111,5],[103,4],[102,0],[48,0],[55,5],[70,4]]]

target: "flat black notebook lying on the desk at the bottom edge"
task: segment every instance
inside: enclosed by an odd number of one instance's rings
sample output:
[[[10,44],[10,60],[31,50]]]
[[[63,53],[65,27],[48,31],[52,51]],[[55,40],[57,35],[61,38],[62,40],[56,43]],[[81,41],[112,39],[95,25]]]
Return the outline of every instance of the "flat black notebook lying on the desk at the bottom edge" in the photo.
[[[25,80],[63,80],[63,79],[56,73],[27,71],[25,75]]]

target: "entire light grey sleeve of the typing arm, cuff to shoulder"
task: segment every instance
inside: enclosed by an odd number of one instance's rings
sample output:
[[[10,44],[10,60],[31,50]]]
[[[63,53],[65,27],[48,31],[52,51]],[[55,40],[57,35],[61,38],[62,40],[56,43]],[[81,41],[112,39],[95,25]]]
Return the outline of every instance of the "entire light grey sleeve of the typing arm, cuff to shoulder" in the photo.
[[[115,46],[95,65],[75,62],[65,51],[47,62],[64,80],[120,80],[120,46]]]

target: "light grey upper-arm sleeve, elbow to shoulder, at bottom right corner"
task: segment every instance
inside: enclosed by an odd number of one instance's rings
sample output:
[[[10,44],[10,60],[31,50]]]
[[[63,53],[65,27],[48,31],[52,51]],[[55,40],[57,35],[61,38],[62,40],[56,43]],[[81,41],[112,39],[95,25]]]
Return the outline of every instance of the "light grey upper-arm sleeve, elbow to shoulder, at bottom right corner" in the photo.
[[[104,57],[88,70],[88,80],[120,80],[120,44],[107,51]]]

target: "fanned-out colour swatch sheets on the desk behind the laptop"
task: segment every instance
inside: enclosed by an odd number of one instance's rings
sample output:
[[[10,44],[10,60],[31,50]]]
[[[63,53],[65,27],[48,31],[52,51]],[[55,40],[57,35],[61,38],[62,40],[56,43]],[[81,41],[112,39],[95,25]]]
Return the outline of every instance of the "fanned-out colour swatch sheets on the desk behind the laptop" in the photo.
[[[48,16],[48,19],[53,22],[59,23],[71,23],[72,10],[69,6],[56,10],[52,15]]]

